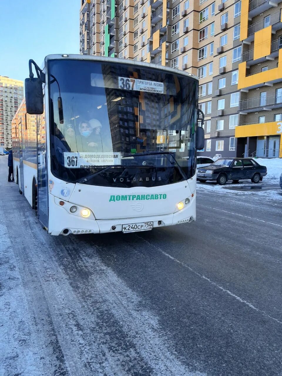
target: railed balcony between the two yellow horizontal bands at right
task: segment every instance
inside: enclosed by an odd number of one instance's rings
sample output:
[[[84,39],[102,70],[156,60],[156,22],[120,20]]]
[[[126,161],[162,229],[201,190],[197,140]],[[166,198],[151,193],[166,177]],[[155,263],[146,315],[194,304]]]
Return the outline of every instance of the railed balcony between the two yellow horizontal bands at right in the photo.
[[[239,102],[240,114],[249,112],[271,111],[273,108],[282,108],[282,94],[270,94],[264,97],[255,97]]]

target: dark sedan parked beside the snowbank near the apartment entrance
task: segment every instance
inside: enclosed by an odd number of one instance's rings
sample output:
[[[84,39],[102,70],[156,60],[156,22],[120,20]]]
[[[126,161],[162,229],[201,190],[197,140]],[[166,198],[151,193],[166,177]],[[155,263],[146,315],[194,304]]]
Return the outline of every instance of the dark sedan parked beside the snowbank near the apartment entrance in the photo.
[[[227,180],[238,183],[241,179],[259,183],[266,174],[267,168],[251,158],[220,158],[210,166],[199,168],[197,179],[200,182],[216,180],[220,185],[226,184]]]

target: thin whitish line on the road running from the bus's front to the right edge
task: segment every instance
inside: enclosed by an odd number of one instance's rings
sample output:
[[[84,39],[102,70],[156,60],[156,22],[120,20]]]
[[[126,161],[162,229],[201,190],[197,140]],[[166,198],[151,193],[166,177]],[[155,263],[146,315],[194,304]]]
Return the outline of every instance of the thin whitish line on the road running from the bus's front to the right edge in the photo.
[[[160,247],[158,246],[155,246],[155,244],[152,244],[150,243],[148,240],[144,239],[144,238],[141,238],[140,236],[138,236],[138,238],[142,239],[143,241],[145,241],[146,243],[150,244],[150,246],[153,246],[155,247],[159,252],[161,252],[164,256],[170,258],[171,260],[177,262],[178,264],[182,265],[183,267],[187,268],[188,270],[190,270],[192,273],[196,274],[198,277],[202,278],[202,279],[205,279],[206,281],[208,281],[210,284],[212,284],[213,286],[217,287],[218,289],[220,289],[221,291],[224,291],[224,293],[227,293],[229,294],[230,296],[232,296],[233,298],[235,298],[236,300],[239,300],[239,302],[241,303],[244,303],[246,304],[247,306],[249,306],[250,308],[252,308],[253,310],[257,311],[257,312],[260,312],[264,315],[266,315],[268,318],[270,318],[271,320],[274,320],[276,321],[277,323],[279,324],[282,324],[282,321],[279,321],[277,320],[277,318],[275,317],[272,317],[270,315],[268,315],[267,312],[265,311],[262,311],[261,309],[255,307],[252,303],[249,303],[247,302],[247,300],[244,300],[242,298],[240,298],[239,296],[233,294],[231,291],[229,290],[226,290],[224,287],[218,285],[216,282],[212,281],[211,279],[209,279],[208,277],[198,273],[196,270],[192,269],[189,265],[185,264],[184,262],[182,261],[179,261],[178,259],[174,258],[173,256],[169,255],[168,253],[164,252]]]

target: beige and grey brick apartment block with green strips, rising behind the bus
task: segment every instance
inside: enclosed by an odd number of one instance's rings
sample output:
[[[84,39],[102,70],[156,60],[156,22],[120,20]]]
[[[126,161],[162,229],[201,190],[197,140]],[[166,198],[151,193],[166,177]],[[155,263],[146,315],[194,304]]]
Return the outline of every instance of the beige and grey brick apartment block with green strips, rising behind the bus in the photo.
[[[167,65],[199,77],[205,148],[236,155],[241,0],[80,0],[80,53]]]

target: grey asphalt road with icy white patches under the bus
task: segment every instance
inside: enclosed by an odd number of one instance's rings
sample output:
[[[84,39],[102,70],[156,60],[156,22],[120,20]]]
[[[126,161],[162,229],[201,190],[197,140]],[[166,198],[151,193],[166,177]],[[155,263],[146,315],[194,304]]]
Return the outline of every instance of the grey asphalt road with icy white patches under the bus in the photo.
[[[0,157],[1,376],[282,375],[282,195],[205,190],[197,221],[52,237]]]

